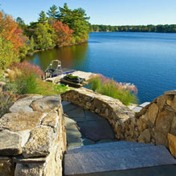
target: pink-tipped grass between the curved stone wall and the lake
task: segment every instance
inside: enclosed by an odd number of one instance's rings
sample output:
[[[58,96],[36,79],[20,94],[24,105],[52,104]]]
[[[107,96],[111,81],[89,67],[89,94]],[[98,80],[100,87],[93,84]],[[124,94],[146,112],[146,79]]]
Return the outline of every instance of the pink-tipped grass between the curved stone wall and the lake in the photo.
[[[119,99],[124,105],[137,103],[137,88],[133,84],[118,83],[102,75],[89,81],[90,88],[95,92]]]

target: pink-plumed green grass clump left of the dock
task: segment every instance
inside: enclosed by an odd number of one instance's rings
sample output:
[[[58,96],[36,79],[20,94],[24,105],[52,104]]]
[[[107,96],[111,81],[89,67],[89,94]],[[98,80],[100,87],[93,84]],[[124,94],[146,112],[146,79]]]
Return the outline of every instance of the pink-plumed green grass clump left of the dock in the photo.
[[[10,69],[6,90],[13,93],[56,95],[67,90],[66,86],[44,82],[43,71],[29,62],[15,63]]]

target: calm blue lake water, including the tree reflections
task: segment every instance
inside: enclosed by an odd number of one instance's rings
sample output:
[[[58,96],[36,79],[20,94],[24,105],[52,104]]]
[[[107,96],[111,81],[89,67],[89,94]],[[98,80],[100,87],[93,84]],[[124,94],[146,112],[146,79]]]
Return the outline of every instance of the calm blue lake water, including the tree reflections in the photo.
[[[176,89],[176,34],[90,33],[87,44],[39,52],[27,59],[43,70],[59,59],[63,67],[133,83],[141,103]]]

